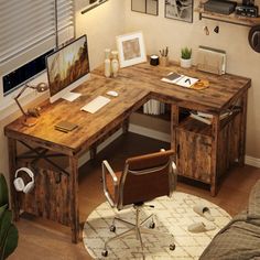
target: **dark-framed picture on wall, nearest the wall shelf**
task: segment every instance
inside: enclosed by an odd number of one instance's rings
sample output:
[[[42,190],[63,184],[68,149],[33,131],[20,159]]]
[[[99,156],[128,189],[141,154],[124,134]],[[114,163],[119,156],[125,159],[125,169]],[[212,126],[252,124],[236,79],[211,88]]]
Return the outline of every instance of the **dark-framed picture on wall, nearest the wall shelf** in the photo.
[[[164,15],[183,22],[193,22],[194,0],[164,0]]]

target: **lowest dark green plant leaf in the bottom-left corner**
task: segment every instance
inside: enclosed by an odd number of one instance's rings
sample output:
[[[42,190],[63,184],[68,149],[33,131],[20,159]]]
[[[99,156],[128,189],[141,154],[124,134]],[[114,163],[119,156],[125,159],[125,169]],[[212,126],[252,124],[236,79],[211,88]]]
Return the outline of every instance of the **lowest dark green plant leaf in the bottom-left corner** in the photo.
[[[18,229],[17,227],[11,224],[11,226],[8,229],[6,241],[2,248],[2,256],[0,259],[8,258],[14,249],[18,247]]]

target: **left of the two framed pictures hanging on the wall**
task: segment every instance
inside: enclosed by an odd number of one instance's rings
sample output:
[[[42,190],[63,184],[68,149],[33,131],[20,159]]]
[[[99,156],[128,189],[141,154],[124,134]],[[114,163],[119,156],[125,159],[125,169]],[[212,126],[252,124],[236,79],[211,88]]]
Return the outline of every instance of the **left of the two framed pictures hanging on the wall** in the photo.
[[[131,0],[131,10],[147,14],[158,15],[158,0]]]

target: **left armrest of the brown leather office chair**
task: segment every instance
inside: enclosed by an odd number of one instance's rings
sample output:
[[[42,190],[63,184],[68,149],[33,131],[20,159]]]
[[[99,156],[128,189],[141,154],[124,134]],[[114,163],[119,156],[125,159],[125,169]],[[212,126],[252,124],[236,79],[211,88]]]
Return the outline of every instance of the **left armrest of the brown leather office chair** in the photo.
[[[108,189],[108,185],[107,185],[108,177],[112,180],[115,197],[112,197],[112,194]],[[102,187],[104,187],[105,196],[112,207],[116,206],[116,201],[117,201],[117,195],[118,195],[118,185],[119,183],[118,183],[117,175],[115,174],[113,170],[109,165],[108,161],[104,160],[102,161]]]

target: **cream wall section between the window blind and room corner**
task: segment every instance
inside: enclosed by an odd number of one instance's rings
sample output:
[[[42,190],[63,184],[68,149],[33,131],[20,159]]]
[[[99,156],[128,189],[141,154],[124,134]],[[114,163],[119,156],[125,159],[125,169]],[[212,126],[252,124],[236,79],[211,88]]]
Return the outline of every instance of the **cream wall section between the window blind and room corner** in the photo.
[[[109,0],[85,14],[84,0],[76,0],[76,34],[87,34],[90,68],[104,61],[104,50],[116,48],[116,36],[123,32],[124,0]]]

